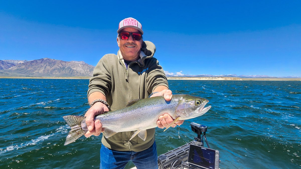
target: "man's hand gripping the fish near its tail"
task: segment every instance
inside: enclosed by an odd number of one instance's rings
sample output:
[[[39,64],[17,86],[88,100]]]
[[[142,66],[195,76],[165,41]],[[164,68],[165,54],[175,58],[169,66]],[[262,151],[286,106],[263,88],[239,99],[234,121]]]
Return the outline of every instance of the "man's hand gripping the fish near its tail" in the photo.
[[[88,131],[85,134],[85,137],[90,137],[92,135],[99,136],[103,132],[102,125],[100,120],[95,120],[94,117],[102,114],[104,111],[109,111],[108,107],[101,102],[96,102],[89,110],[85,113],[86,124]]]

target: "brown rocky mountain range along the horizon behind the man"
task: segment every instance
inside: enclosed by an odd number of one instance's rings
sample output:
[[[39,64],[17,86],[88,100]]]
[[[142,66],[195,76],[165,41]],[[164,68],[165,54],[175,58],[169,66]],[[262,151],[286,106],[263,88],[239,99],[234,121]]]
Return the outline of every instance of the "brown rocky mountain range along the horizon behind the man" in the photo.
[[[56,59],[37,60],[0,60],[0,77],[92,77],[95,66],[83,61],[62,61]],[[187,75],[173,74],[169,77],[240,77],[240,78],[277,78],[267,75]],[[296,77],[282,77],[296,78]]]

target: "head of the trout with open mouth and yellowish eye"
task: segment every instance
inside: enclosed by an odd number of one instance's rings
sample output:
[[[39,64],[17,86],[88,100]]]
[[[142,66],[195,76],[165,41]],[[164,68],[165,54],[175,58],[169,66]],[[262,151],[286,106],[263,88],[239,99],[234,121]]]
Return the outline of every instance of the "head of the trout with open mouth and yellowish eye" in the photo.
[[[211,106],[205,107],[208,102],[206,98],[183,95],[178,99],[178,106],[175,109],[176,116],[180,116],[179,120],[201,116],[211,108]]]

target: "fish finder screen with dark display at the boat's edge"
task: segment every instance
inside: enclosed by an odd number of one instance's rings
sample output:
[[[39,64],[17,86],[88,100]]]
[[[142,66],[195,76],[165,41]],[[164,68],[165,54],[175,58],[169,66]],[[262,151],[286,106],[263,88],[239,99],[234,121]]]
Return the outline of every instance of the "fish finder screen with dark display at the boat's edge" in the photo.
[[[188,163],[214,169],[215,150],[191,144],[189,147]]]

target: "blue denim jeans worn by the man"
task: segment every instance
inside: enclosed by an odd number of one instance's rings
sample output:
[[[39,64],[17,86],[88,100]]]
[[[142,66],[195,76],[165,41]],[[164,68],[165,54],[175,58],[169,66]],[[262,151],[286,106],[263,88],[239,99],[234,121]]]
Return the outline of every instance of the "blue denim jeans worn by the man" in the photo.
[[[101,144],[100,169],[124,168],[129,161],[133,161],[137,169],[157,169],[158,156],[156,142],[143,151],[116,151]]]

